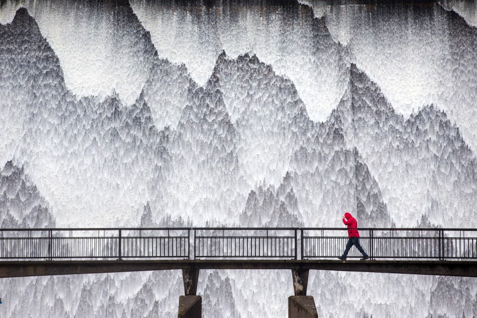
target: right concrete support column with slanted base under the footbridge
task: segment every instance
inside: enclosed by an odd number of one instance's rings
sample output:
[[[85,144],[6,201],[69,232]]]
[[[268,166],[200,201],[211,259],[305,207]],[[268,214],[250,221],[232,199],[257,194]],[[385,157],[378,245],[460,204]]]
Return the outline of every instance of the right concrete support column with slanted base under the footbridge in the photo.
[[[308,269],[292,269],[295,296],[288,297],[288,318],[318,318],[315,300],[306,296],[309,273]]]

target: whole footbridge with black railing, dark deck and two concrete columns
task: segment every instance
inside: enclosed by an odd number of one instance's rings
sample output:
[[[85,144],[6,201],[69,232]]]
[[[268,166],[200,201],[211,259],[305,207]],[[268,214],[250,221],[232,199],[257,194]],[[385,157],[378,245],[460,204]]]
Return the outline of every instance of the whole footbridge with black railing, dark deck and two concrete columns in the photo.
[[[289,269],[289,317],[317,317],[312,270],[477,277],[477,229],[360,228],[370,259],[345,228],[0,229],[0,278],[182,270],[178,317],[201,317],[201,269]]]

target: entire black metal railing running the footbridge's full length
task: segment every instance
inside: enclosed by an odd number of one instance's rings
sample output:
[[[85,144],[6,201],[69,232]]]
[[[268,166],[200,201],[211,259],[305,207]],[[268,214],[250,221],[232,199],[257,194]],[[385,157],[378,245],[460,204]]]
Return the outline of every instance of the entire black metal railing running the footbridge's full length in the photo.
[[[358,230],[372,259],[477,259],[477,229]],[[346,228],[0,229],[0,259],[326,259],[347,241]]]

